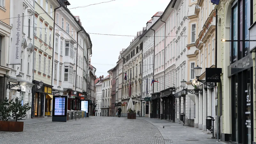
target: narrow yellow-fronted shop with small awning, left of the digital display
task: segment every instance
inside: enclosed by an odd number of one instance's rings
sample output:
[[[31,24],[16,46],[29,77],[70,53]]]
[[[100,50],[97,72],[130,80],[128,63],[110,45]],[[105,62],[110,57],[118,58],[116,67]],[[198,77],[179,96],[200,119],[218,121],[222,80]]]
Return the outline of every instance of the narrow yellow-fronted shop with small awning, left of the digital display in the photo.
[[[51,116],[52,115],[52,86],[46,86],[44,85],[44,96],[45,96],[45,103],[44,103],[44,111],[45,116]]]

